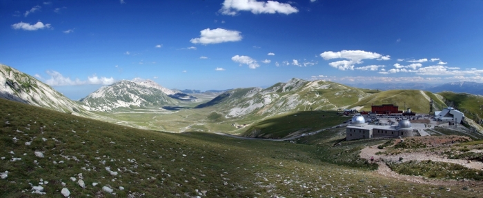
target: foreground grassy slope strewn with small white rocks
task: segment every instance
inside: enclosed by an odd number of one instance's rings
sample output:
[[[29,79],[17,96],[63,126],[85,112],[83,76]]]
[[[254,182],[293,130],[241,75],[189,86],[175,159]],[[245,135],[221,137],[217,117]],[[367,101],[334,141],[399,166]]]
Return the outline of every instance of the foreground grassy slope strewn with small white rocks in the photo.
[[[441,197],[477,197],[458,186],[446,192],[437,186],[379,177],[352,158],[345,159],[354,161],[351,166],[337,165],[334,159],[347,151],[341,147],[326,152],[332,149],[327,148],[331,141],[311,146],[199,132],[137,130],[3,99],[0,108],[0,156],[6,157],[0,159],[0,172],[9,171],[8,177],[0,180],[0,197],[37,197],[30,193],[28,183],[37,186],[39,179],[49,181],[43,185],[47,197],[61,197],[62,182],[72,197],[126,197],[133,192],[146,197],[195,196],[195,189],[208,190],[206,197],[421,197],[430,192]],[[40,126],[46,126],[44,132],[39,131]],[[333,134],[320,133],[322,137],[341,138]],[[32,144],[26,146],[32,138]],[[34,151],[43,152],[45,157],[35,157]],[[320,157],[328,153],[338,155]],[[74,156],[79,161],[72,159]],[[21,160],[10,161],[13,157]],[[110,175],[106,166],[118,175]],[[86,181],[85,189],[70,180],[79,173]],[[99,185],[92,186],[92,182]],[[117,196],[103,192],[102,186],[115,188]],[[119,186],[125,190],[118,190]]]

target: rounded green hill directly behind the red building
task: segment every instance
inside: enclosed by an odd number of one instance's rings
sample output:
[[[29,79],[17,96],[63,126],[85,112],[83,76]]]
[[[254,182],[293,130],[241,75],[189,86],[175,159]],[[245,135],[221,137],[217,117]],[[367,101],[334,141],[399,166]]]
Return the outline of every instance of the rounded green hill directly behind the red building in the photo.
[[[413,112],[428,113],[429,99],[433,99],[436,104],[436,110],[438,110],[437,107],[446,107],[444,101],[431,92],[422,90],[387,90],[366,97],[351,105],[350,108],[362,106],[361,110],[371,111],[372,105],[394,104],[399,106],[400,110],[405,110],[404,106],[406,106],[406,108],[411,108]]]

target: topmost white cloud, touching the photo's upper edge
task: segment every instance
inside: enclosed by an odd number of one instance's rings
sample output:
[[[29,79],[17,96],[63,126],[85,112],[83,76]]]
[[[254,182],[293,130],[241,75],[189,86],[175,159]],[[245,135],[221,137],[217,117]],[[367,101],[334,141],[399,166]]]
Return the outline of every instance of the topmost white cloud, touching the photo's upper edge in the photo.
[[[219,10],[221,14],[232,15],[238,11],[250,11],[253,14],[292,14],[299,10],[290,6],[288,3],[279,3],[278,1],[257,1],[257,0],[225,0]]]

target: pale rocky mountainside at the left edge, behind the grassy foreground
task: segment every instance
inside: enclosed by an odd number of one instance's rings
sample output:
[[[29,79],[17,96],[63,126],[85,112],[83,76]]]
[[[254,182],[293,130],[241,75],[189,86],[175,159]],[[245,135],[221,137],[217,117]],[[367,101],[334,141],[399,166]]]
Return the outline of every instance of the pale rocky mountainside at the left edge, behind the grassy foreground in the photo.
[[[74,115],[87,110],[52,87],[9,66],[0,65],[0,97]]]

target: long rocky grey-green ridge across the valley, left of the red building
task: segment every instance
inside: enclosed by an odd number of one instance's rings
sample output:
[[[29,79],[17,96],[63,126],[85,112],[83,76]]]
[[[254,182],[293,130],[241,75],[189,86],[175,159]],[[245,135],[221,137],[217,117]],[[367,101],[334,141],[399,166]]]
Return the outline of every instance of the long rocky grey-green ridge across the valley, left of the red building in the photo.
[[[356,103],[366,93],[357,88],[328,81],[291,79],[269,88],[238,88],[228,90],[197,108],[217,106],[225,117],[242,117],[250,114],[277,115],[297,110],[337,110]]]

